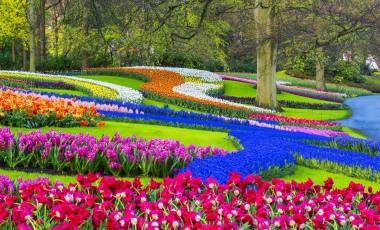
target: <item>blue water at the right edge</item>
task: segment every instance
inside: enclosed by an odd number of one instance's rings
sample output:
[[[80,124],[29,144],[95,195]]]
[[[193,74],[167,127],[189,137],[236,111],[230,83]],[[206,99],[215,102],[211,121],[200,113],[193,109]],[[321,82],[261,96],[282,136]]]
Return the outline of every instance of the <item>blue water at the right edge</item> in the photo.
[[[380,95],[355,97],[344,103],[352,108],[352,116],[339,123],[380,141]]]

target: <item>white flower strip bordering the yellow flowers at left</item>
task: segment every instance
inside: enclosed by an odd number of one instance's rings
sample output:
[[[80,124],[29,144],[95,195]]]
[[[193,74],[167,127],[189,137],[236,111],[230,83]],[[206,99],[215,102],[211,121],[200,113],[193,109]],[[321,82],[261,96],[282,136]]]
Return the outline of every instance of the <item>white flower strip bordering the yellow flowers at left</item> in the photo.
[[[86,78],[79,78],[79,77],[73,77],[73,76],[66,76],[66,75],[52,75],[52,74],[41,74],[41,73],[32,73],[32,72],[23,72],[23,71],[0,71],[2,73],[11,73],[11,74],[25,74],[25,75],[31,75],[31,76],[43,76],[43,77],[50,77],[50,78],[66,78],[66,79],[72,79],[76,81],[82,81],[82,82],[88,82],[95,85],[104,86],[107,88],[110,88],[117,92],[118,98],[122,101],[127,102],[134,102],[134,103],[141,103],[144,99],[141,92],[134,90],[132,88],[124,87],[121,85],[116,85],[108,82],[98,81],[98,80],[92,80],[92,79],[86,79]]]

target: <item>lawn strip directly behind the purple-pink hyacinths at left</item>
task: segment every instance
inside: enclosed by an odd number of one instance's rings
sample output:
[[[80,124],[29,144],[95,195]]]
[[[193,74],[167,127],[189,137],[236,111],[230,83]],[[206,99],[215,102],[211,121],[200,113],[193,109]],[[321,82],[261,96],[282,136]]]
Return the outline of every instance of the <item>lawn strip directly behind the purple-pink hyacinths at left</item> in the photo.
[[[138,137],[144,137],[147,139],[163,138],[179,140],[185,145],[211,145],[227,150],[236,149],[232,141],[228,139],[228,134],[225,132],[185,129],[160,125],[106,121],[106,125],[104,127],[43,127],[40,129],[43,132],[47,132],[50,129],[53,129],[67,133],[90,133],[95,137],[101,137],[103,135],[113,136],[115,132],[119,132],[121,136],[132,136],[135,134]],[[20,130],[20,128],[11,128],[11,130],[17,132]],[[35,129],[22,128],[21,130],[27,132]]]

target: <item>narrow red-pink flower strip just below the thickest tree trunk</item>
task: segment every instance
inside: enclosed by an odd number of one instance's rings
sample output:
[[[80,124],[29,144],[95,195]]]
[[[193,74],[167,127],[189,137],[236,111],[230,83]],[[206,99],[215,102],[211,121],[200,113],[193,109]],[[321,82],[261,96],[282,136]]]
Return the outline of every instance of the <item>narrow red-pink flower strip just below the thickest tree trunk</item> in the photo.
[[[290,124],[301,124],[301,125],[309,125],[309,126],[336,126],[337,124],[335,122],[329,122],[329,121],[320,121],[320,120],[311,120],[311,119],[304,119],[304,118],[292,118],[292,117],[285,117],[280,116],[276,114],[265,114],[265,113],[252,113],[248,115],[249,118],[254,119],[261,119],[261,120],[271,120],[271,121],[278,121],[278,122],[284,122],[284,123],[290,123]]]

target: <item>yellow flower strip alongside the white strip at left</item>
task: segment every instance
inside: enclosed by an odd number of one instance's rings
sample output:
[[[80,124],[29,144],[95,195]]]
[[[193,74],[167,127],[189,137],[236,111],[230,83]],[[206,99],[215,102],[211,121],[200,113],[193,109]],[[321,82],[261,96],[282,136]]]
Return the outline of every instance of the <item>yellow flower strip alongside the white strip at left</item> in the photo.
[[[47,77],[47,76],[39,76],[39,75],[28,75],[28,74],[16,74],[16,73],[0,73],[0,76],[6,77],[14,77],[14,78],[33,78],[40,80],[53,80],[53,81],[62,81],[68,84],[76,85],[81,88],[87,89],[91,92],[94,97],[102,97],[108,99],[117,99],[117,92],[113,89],[110,89],[106,86],[97,85],[95,83],[84,82],[69,78],[63,77]]]

